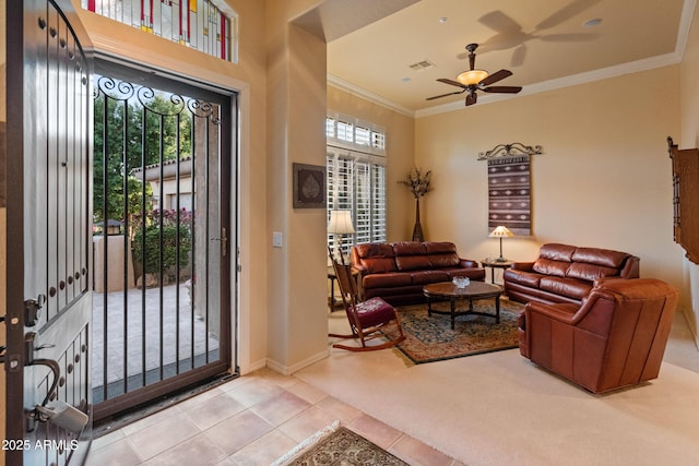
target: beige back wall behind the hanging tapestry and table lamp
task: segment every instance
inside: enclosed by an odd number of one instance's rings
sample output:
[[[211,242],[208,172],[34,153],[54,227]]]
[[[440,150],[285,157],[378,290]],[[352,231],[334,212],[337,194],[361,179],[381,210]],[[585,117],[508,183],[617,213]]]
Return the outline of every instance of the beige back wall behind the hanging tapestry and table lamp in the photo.
[[[415,158],[435,184],[423,214],[429,236],[455,241],[466,258],[497,254],[477,154],[542,145],[532,157],[533,235],[505,240],[505,255],[532,260],[545,242],[616,249],[641,258],[642,276],[683,287],[665,142],[680,129],[678,84],[679,67],[666,67],[419,118]]]

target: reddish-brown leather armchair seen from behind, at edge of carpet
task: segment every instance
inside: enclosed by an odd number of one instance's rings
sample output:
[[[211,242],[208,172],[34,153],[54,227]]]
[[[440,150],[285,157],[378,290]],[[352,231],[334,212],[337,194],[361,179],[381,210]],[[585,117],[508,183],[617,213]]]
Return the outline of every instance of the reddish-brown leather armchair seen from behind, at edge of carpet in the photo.
[[[594,392],[656,379],[679,291],[653,278],[607,279],[582,304],[530,302],[520,353]]]

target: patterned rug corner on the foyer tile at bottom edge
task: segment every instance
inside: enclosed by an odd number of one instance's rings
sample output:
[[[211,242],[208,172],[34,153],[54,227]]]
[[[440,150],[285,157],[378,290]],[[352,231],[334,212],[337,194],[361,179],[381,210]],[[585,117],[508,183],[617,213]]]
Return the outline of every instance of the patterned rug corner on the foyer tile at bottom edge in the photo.
[[[335,421],[309,437],[273,466],[410,466],[377,444]]]

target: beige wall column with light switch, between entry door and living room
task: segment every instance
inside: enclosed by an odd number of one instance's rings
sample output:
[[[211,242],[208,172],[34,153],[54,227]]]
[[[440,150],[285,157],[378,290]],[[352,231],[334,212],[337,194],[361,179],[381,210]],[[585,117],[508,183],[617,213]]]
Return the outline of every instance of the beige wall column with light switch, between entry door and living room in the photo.
[[[328,356],[325,212],[292,207],[293,164],[325,165],[325,44],[289,24],[309,3],[268,2],[266,11],[266,365],[283,373]]]

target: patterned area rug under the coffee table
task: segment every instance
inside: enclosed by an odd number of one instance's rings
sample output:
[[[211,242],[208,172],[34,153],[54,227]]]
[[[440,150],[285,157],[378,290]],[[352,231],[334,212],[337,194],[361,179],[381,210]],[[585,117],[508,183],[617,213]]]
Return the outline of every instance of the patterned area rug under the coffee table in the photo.
[[[467,302],[460,302],[467,306]],[[475,311],[495,315],[491,299],[473,302]],[[449,302],[433,303],[433,309],[449,310]],[[518,347],[517,318],[524,309],[519,302],[500,300],[500,323],[495,318],[482,315],[459,315],[454,330],[451,316],[447,314],[427,315],[427,304],[398,308],[405,340],[396,348],[412,363],[441,361],[483,353],[499,351]],[[388,337],[395,337],[392,328]]]

